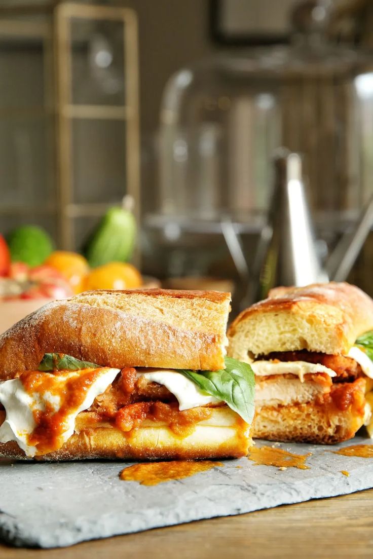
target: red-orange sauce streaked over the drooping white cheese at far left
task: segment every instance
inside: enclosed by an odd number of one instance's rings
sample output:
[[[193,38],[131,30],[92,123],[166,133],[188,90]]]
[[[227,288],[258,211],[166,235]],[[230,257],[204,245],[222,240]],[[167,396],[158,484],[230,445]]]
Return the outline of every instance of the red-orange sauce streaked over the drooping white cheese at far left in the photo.
[[[36,456],[46,454],[60,448],[64,431],[67,429],[68,415],[81,406],[87,396],[92,382],[100,376],[102,368],[84,369],[74,375],[72,371],[46,373],[26,371],[20,376],[23,387],[30,396],[38,394],[42,398],[45,392],[52,397],[59,397],[58,409],[51,402],[43,400],[44,410],[34,409],[35,429],[28,437],[28,444],[36,447]],[[58,380],[56,378],[58,375]],[[69,378],[71,377],[71,378]]]

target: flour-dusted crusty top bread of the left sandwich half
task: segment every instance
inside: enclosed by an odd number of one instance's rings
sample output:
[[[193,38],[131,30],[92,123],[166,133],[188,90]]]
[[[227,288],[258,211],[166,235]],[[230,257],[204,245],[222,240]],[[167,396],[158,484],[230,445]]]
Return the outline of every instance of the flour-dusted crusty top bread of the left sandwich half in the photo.
[[[0,336],[0,380],[45,353],[106,367],[224,368],[230,293],[87,291],[33,312]]]

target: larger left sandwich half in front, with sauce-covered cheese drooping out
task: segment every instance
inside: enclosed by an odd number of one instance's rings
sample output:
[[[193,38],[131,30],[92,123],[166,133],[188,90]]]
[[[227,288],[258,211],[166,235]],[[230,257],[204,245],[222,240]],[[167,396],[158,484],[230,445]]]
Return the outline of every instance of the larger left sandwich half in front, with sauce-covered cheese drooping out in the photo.
[[[0,337],[0,455],[198,459],[251,444],[254,375],[226,357],[230,294],[91,291]]]

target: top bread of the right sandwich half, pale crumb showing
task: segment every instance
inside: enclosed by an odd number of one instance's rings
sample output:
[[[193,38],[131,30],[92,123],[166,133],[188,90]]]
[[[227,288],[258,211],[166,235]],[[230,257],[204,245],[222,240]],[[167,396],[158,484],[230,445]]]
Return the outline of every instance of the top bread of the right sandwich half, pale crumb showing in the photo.
[[[271,352],[348,353],[373,329],[373,301],[348,283],[276,287],[234,320],[228,330],[231,357],[250,361]]]

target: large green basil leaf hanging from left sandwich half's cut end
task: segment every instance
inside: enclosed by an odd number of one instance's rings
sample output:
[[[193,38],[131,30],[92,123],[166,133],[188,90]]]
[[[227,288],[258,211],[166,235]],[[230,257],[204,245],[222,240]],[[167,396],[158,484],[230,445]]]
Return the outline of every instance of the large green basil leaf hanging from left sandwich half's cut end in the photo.
[[[247,423],[254,416],[255,377],[248,363],[237,359],[225,358],[225,369],[221,371],[188,371],[178,372],[195,382],[199,388],[225,402]]]

